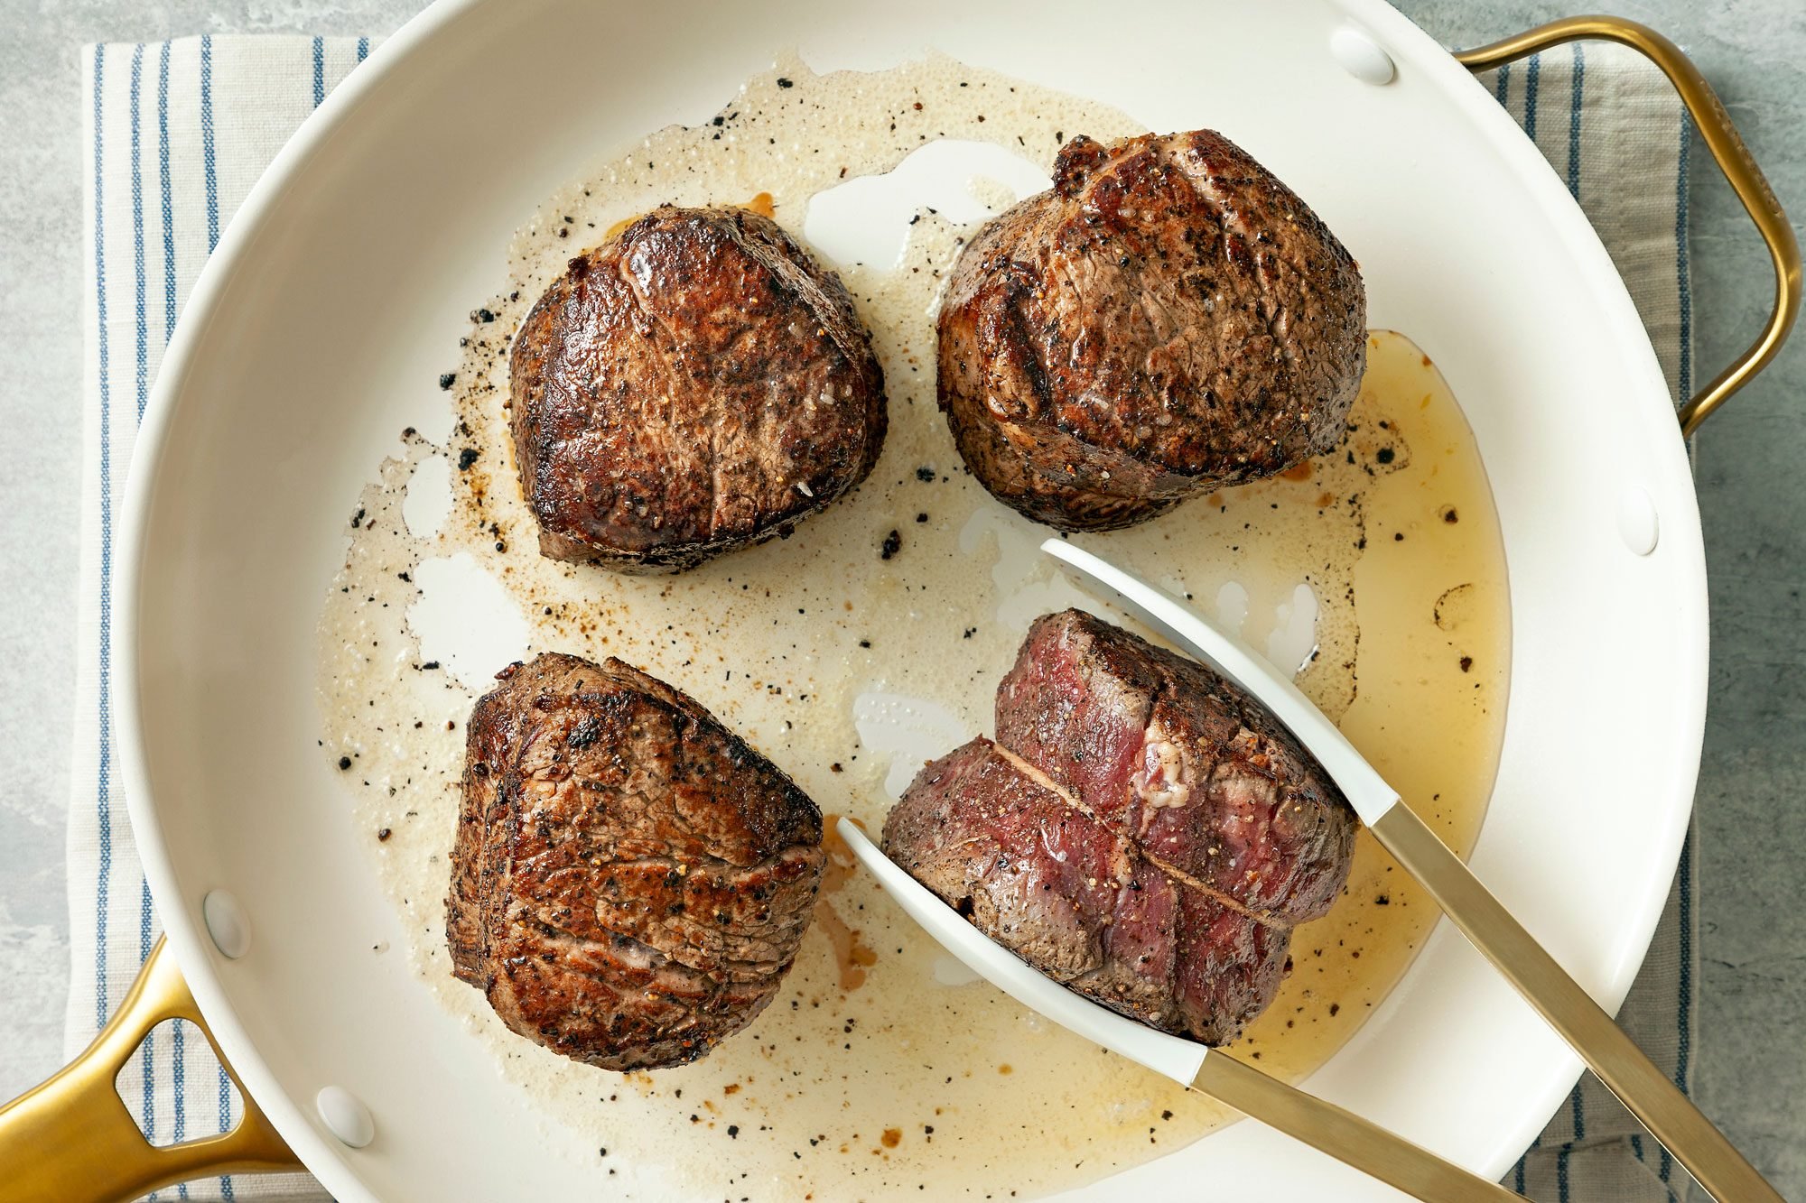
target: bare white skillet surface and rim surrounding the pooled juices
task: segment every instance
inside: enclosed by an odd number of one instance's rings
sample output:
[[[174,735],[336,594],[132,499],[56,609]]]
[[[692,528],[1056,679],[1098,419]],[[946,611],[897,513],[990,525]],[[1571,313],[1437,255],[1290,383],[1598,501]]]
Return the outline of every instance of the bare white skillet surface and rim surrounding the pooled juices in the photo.
[[[1492,96],[1378,0],[1145,0],[1109,20],[1125,36],[1100,36],[1098,9],[1076,0],[1031,18],[1002,0],[441,0],[251,190],[139,434],[121,755],[182,974],[338,1199],[598,1189],[576,1138],[540,1124],[403,957],[370,954],[401,932],[314,748],[314,621],[343,508],[397,430],[432,428],[446,349],[533,206],[598,154],[706,117],[787,45],[824,69],[937,47],[1149,128],[1210,125],[1311,199],[1362,260],[1371,322],[1409,332],[1452,383],[1497,500],[1512,688],[1472,863],[1582,986],[1606,1006],[1624,997],[1685,833],[1707,665],[1692,482],[1624,284]],[[1349,36],[1396,78],[1351,74],[1331,51]],[[1627,546],[1627,504],[1660,533],[1652,547]],[[1575,730],[1595,755],[1550,791],[1544,750]],[[238,959],[206,936],[209,891],[247,918]],[[1497,1174],[1580,1066],[1452,936],[1429,941],[1308,1087]],[[368,1107],[374,1140],[334,1136],[323,1087]],[[1089,1194],[1170,1196],[1201,1174],[1224,1198],[1391,1198],[1246,1124]]]

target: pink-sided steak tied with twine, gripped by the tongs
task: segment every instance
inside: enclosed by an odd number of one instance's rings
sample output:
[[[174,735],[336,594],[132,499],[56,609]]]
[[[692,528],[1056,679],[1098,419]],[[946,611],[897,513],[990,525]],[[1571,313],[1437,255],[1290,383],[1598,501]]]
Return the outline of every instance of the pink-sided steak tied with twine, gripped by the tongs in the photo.
[[[1257,701],[1082,611],[1035,621],[997,744],[928,764],[885,853],[1035,968],[1226,1044],[1342,892],[1354,813]]]

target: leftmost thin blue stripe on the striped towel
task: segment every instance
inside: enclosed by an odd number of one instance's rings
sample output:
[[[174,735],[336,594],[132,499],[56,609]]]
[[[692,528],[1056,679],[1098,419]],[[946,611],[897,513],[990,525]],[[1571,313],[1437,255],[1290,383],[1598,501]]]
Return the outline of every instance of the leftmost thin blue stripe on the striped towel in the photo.
[[[112,771],[112,723],[108,721],[107,690],[112,641],[112,392],[107,379],[107,204],[105,173],[101,170],[107,132],[101,114],[101,92],[107,76],[107,47],[94,47],[94,311],[99,352],[101,392],[101,598],[99,598],[99,760],[94,773],[94,807],[99,822],[101,867],[96,880],[94,907],[94,1026],[107,1026],[107,894],[112,872],[112,798],[107,779]]]

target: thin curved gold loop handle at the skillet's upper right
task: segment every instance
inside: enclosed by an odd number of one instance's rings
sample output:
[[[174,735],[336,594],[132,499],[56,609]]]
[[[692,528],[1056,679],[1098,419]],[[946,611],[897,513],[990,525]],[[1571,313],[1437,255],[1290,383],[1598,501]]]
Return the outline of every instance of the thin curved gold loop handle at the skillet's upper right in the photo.
[[[1799,240],[1793,237],[1793,226],[1788,224],[1788,215],[1781,211],[1781,202],[1763,177],[1761,168],[1750,157],[1748,146],[1743,145],[1743,137],[1730,123],[1730,114],[1725,112],[1725,105],[1719,103],[1718,94],[1712,92],[1699,69],[1681,54],[1681,49],[1654,29],[1624,20],[1622,16],[1569,16],[1568,20],[1539,25],[1515,38],[1472,51],[1459,51],[1456,52],[1456,60],[1468,70],[1490,70],[1537,51],[1587,38],[1627,45],[1662,69],[1662,74],[1680,92],[1687,112],[1692,114],[1694,125],[1699,126],[1699,134],[1705,137],[1707,150],[1712,152],[1718,170],[1725,173],[1725,181],[1736,190],[1737,199],[1743,200],[1743,208],[1750,213],[1750,220],[1755,222],[1755,229],[1763,235],[1763,242],[1768,244],[1768,255],[1775,264],[1775,307],[1768,314],[1768,323],[1763,327],[1761,336],[1730,367],[1719,372],[1710,385],[1696,392],[1681,406],[1681,434],[1690,435],[1730,394],[1750,383],[1775,358],[1781,343],[1786,341],[1788,331],[1793,327],[1793,318],[1799,316],[1801,309]]]

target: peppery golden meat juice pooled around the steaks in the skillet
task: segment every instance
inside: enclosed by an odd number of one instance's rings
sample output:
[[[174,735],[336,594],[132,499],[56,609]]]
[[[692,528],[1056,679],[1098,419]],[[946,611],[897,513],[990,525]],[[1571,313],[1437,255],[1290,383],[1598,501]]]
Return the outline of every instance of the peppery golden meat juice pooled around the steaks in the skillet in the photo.
[[[697,697],[825,813],[876,831],[921,760],[990,733],[993,688],[1037,614],[1084,605],[1132,625],[1037,551],[1046,527],[966,475],[936,410],[941,280],[1020,181],[923,191],[899,215],[896,262],[834,264],[883,361],[890,434],[870,479],[789,538],[681,576],[544,560],[507,439],[509,334],[563,264],[625,219],[769,193],[777,220],[804,235],[811,197],[930,143],[988,143],[1044,173],[1080,132],[1140,128],[946,58],[831,76],[782,61],[717,121],[661,130],[545,202],[509,247],[507,282],[471,298],[466,345],[448,349],[450,434],[405,435],[350,506],[320,641],[321,744],[345,766],[347,822],[368,840],[423,988],[547,1124],[607,1149],[594,1172],[610,1198],[1026,1198],[1233,1118],[972,981],[833,838],[818,918],[775,1002],[681,1069],[621,1077],[515,1037],[452,979],[444,947],[462,724],[509,659],[619,656]],[[1349,423],[1344,446],[1286,477],[1075,542],[1302,665],[1300,688],[1465,849],[1508,679],[1490,490],[1454,397],[1400,334],[1371,336]],[[1322,1064],[1436,914],[1362,833],[1345,896],[1297,930],[1291,975],[1233,1053],[1288,1078]]]

